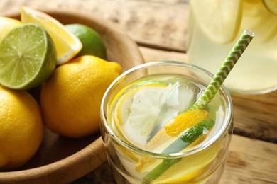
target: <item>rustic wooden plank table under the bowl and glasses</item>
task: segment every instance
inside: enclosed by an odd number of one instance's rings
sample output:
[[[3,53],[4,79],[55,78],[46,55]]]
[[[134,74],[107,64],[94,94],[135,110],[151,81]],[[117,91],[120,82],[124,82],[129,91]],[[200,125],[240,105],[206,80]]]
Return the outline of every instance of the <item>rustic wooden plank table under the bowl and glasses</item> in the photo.
[[[0,15],[18,12],[23,5],[101,16],[126,30],[139,44],[146,62],[187,62],[188,0],[1,0]],[[277,91],[257,96],[232,94],[232,99],[234,136],[220,183],[277,183]],[[114,180],[104,163],[74,183]]]

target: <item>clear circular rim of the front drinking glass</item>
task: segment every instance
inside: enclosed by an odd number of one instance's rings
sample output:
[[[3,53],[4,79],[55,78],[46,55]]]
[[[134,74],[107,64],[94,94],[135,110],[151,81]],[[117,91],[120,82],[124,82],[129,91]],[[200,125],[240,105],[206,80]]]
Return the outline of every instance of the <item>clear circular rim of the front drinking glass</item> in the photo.
[[[112,138],[121,146],[124,146],[126,149],[130,149],[131,151],[135,152],[136,154],[139,154],[141,156],[143,155],[147,155],[147,156],[151,156],[153,158],[158,158],[158,159],[165,159],[165,158],[170,158],[170,159],[178,159],[180,157],[183,156],[187,156],[190,154],[195,154],[199,151],[202,151],[203,149],[207,149],[209,146],[211,146],[214,142],[216,142],[220,137],[222,137],[222,135],[224,135],[229,127],[232,124],[232,120],[233,120],[233,104],[232,104],[232,98],[231,95],[229,93],[229,91],[227,90],[227,88],[224,86],[224,84],[222,84],[222,86],[219,88],[219,91],[222,91],[222,93],[224,94],[224,100],[226,101],[227,104],[227,110],[226,110],[226,115],[224,116],[224,122],[222,122],[222,124],[224,124],[224,126],[222,125],[219,128],[219,131],[217,133],[215,133],[211,139],[209,139],[207,142],[205,142],[204,145],[197,145],[194,146],[192,149],[188,149],[188,151],[182,151],[182,152],[177,152],[177,153],[170,153],[170,154],[164,154],[164,153],[155,153],[155,152],[151,152],[151,151],[146,151],[143,149],[140,149],[137,146],[132,146],[131,144],[129,144],[128,142],[125,142],[123,139],[120,139],[118,136],[116,136],[116,134],[114,134],[114,131],[112,130],[112,128],[108,125],[107,123],[107,117],[105,115],[105,110],[104,110],[104,104],[106,102],[106,97],[109,94],[109,91],[111,91],[112,87],[117,84],[117,82],[122,79],[124,76],[127,76],[128,74],[130,74],[133,71],[136,71],[137,69],[143,69],[143,68],[148,68],[148,67],[153,67],[153,66],[165,66],[165,65],[175,65],[175,66],[183,66],[183,67],[191,67],[194,69],[197,69],[198,71],[203,72],[202,74],[206,74],[207,76],[210,76],[211,79],[213,78],[213,74],[210,71],[207,71],[206,69],[203,69],[202,67],[198,67],[195,64],[190,64],[190,63],[186,63],[186,62],[178,62],[178,61],[156,61],[156,62],[148,62],[148,63],[144,63],[144,64],[139,64],[136,67],[133,67],[131,69],[128,69],[126,71],[124,71],[120,76],[118,76],[113,82],[112,84],[110,84],[110,86],[107,88],[107,91],[104,93],[104,96],[102,98],[102,103],[101,103],[101,109],[100,109],[100,115],[101,115],[101,121],[102,124],[104,124],[105,129],[107,130],[107,132],[109,132],[109,136],[112,136]]]

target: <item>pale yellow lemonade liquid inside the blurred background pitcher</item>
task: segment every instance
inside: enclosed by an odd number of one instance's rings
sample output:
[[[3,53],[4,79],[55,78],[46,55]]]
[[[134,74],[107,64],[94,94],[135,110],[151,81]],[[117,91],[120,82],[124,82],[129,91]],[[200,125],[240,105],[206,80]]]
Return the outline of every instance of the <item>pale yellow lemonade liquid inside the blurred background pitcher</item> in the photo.
[[[269,12],[261,0],[244,0],[237,37],[227,44],[219,44],[203,32],[200,20],[195,15],[195,8],[197,5],[190,6],[187,48],[189,62],[215,74],[241,33],[249,28],[254,32],[255,38],[241,55],[239,62],[224,81],[224,85],[234,93],[256,94],[275,90],[277,88],[277,16]]]

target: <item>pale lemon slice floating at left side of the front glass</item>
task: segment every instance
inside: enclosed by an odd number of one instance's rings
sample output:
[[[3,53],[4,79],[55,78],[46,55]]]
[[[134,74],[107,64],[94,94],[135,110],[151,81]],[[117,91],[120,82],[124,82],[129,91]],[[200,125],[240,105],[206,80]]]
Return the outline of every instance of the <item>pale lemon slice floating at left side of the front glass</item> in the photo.
[[[161,111],[158,105],[161,102],[158,102],[158,99],[169,91],[170,88],[166,85],[148,84],[131,89],[122,96],[116,104],[114,117],[116,126],[126,141],[136,146],[144,146]],[[146,93],[148,96],[145,96]],[[145,123],[146,121],[148,123]]]

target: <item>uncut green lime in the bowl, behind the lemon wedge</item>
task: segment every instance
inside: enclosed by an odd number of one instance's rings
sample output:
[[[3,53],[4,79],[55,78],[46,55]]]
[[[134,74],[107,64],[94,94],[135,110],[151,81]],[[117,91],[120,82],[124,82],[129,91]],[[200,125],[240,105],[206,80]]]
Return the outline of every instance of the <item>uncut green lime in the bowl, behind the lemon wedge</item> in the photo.
[[[77,57],[82,55],[94,55],[102,59],[107,59],[106,46],[99,34],[82,24],[67,24],[65,28],[73,35],[77,36],[82,42],[82,50],[77,54]]]

